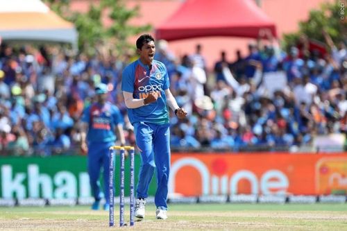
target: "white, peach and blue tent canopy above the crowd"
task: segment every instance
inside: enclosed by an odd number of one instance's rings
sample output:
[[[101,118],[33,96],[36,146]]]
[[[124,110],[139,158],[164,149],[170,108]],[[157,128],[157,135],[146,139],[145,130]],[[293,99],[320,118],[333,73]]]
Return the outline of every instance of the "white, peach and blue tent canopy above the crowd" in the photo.
[[[0,38],[3,41],[44,41],[77,46],[74,24],[65,21],[40,0],[0,0]]]

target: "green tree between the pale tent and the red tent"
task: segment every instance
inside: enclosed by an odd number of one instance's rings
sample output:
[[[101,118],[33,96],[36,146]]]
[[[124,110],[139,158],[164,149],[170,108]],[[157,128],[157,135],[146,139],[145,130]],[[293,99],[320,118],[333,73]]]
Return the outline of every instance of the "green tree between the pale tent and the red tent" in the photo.
[[[78,31],[78,49],[89,54],[96,52],[100,45],[115,49],[116,55],[121,55],[133,44],[128,40],[134,35],[151,30],[151,25],[131,25],[130,19],[139,15],[139,6],[127,8],[124,0],[100,0],[90,2],[87,12],[70,10],[69,0],[45,0],[52,10],[61,17],[74,23]],[[103,20],[111,22],[103,25]]]

